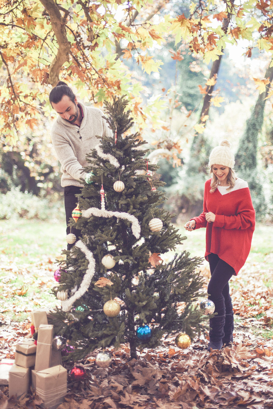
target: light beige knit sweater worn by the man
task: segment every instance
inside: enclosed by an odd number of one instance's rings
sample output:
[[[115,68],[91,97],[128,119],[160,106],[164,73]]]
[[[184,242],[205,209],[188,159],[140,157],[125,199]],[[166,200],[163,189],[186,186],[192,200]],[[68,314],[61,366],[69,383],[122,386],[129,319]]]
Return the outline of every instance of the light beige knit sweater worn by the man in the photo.
[[[61,162],[61,186],[79,186],[80,178],[86,173],[82,172],[83,166],[88,166],[86,155],[99,143],[96,136],[113,135],[108,127],[104,115],[98,108],[84,106],[81,126],[70,124],[58,116],[52,127],[52,144],[57,157]]]

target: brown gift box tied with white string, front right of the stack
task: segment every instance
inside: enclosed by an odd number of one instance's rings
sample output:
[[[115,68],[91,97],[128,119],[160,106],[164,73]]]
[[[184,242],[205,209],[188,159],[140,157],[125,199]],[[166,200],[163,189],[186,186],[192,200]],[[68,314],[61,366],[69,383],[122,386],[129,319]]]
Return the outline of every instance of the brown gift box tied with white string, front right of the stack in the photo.
[[[53,408],[63,402],[67,393],[67,370],[61,365],[42,371],[32,371],[36,393],[43,400],[42,407]]]

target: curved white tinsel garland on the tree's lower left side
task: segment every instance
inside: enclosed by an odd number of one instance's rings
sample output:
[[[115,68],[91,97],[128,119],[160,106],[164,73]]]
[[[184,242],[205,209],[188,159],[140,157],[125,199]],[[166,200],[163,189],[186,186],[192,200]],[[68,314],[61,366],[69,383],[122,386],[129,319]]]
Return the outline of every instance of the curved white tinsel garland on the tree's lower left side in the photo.
[[[75,246],[78,247],[85,254],[89,263],[88,263],[86,273],[83,276],[83,281],[81,282],[81,285],[79,286],[79,290],[74,292],[72,297],[70,297],[69,299],[62,301],[61,306],[63,308],[63,311],[69,311],[73,303],[76,300],[78,300],[80,297],[83,296],[83,294],[88,290],[91,280],[95,274],[96,263],[93,257],[93,253],[90,252],[90,250],[88,250],[86,245],[81,240],[78,240],[77,243],[75,243]]]

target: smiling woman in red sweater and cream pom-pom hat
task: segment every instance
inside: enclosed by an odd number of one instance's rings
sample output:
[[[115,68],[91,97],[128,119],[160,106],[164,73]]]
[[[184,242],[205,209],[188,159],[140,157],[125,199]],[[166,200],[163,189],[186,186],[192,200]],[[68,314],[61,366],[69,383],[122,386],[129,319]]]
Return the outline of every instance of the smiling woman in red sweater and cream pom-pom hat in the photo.
[[[255,210],[248,184],[233,170],[234,155],[225,139],[209,157],[212,178],[205,182],[203,213],[185,224],[192,231],[206,227],[205,259],[210,264],[209,299],[215,315],[210,319],[208,351],[233,341],[233,310],[228,281],[237,275],[250,252]]]

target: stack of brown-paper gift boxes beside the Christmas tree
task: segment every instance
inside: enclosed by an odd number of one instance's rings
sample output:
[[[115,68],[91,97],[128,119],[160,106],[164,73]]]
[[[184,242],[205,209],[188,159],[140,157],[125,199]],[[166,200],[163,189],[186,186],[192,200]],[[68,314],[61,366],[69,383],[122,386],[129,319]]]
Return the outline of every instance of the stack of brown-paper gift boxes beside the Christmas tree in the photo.
[[[43,400],[42,407],[55,409],[67,393],[67,370],[61,352],[52,348],[53,325],[47,323],[45,311],[32,312],[38,331],[37,346],[32,340],[16,345],[15,363],[9,371],[9,396],[27,393],[30,382]]]

